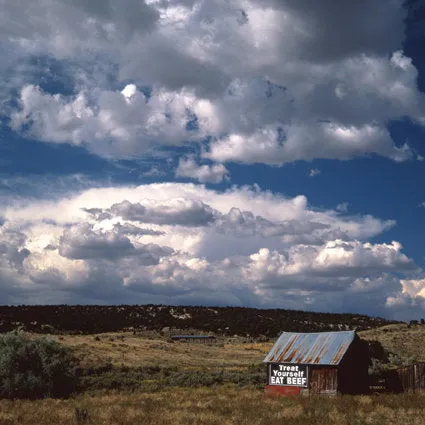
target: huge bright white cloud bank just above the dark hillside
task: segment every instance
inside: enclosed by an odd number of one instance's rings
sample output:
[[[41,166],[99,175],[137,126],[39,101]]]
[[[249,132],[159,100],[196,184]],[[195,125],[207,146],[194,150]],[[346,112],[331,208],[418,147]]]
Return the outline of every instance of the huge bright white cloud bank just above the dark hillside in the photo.
[[[173,300],[391,316],[422,293],[420,285],[406,289],[417,266],[400,243],[368,241],[394,222],[312,210],[303,196],[163,183],[0,209],[3,302],[46,293],[51,302]],[[404,307],[391,301],[399,299]]]

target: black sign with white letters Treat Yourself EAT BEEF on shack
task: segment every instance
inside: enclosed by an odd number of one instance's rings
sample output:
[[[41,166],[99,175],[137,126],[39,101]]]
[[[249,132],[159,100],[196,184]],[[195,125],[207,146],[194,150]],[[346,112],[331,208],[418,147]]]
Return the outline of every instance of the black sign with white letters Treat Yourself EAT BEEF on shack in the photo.
[[[268,385],[308,388],[309,369],[307,364],[269,363],[267,368]]]

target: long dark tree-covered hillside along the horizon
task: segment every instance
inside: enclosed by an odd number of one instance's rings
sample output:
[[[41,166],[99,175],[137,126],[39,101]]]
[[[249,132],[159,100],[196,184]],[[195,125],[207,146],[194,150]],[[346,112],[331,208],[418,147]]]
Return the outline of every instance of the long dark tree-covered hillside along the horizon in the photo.
[[[40,333],[93,334],[164,327],[223,335],[275,337],[281,331],[366,330],[396,323],[359,314],[260,310],[244,307],[0,306],[0,332],[16,328]]]

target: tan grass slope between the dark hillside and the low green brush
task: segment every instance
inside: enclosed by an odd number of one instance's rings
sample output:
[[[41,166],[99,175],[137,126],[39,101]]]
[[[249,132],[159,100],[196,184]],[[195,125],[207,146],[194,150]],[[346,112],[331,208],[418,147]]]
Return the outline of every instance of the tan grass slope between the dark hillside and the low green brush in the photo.
[[[32,334],[37,338],[39,335]],[[132,332],[99,335],[47,335],[72,348],[83,367],[111,363],[114,366],[178,367],[179,369],[234,370],[260,363],[273,343],[242,343],[237,338],[206,345],[170,342]]]

